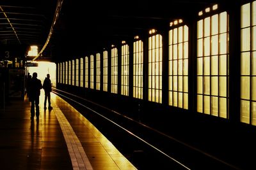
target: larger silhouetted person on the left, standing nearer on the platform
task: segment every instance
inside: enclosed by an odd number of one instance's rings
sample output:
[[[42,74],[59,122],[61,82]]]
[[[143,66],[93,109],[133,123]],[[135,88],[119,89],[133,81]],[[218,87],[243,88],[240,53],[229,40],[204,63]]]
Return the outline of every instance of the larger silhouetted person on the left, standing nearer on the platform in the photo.
[[[35,117],[35,106],[36,106],[36,119],[39,118],[39,96],[40,90],[42,89],[41,80],[37,79],[37,73],[33,73],[31,82],[29,85],[29,99],[31,101],[31,120]]]

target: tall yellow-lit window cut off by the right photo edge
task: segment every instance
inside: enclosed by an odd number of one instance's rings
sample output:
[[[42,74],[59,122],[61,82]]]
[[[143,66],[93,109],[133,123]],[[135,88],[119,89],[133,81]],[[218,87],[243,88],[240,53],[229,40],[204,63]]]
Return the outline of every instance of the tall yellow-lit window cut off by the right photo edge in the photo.
[[[256,1],[241,6],[240,120],[256,125]]]

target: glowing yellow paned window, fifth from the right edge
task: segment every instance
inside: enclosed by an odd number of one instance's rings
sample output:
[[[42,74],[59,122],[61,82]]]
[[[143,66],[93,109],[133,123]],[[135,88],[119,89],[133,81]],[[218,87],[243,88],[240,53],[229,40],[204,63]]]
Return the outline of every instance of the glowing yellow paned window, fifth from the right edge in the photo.
[[[143,42],[133,43],[133,97],[143,99]]]

